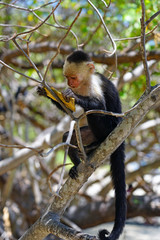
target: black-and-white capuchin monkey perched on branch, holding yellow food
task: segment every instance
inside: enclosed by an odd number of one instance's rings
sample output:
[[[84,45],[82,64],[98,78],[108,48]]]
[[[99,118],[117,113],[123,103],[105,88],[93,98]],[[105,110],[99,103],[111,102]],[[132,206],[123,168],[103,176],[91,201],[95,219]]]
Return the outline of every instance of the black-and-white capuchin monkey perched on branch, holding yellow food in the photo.
[[[64,91],[66,99],[73,97],[75,103],[80,105],[84,111],[96,109],[121,113],[121,103],[118,92],[113,83],[102,74],[95,72],[95,67],[88,54],[78,50],[70,54],[65,60],[63,67],[64,76],[67,79],[69,88]],[[46,95],[42,87],[38,87],[39,95]],[[63,108],[52,100],[56,106]],[[64,111],[64,110],[63,110]],[[104,139],[113,131],[120,118],[103,115],[87,115],[88,126],[82,127],[81,135],[85,146],[86,154],[89,155],[95,150]],[[68,132],[64,134],[63,141],[66,140]],[[73,133],[71,144],[77,145],[75,133]],[[112,232],[101,230],[98,234],[100,240],[116,240],[123,231],[126,218],[126,186],[125,186],[125,146],[122,143],[111,155],[111,174],[115,188],[115,223]],[[74,148],[69,149],[69,156],[74,164],[69,175],[75,179],[78,176],[77,166],[80,163],[79,151]]]

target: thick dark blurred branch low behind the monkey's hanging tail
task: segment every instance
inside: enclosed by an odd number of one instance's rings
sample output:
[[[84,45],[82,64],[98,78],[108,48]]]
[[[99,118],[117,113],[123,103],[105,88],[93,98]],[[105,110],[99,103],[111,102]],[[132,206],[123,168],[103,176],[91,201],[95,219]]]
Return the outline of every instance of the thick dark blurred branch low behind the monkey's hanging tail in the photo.
[[[160,208],[153,207],[154,199],[160,202],[159,196],[132,196],[127,202],[127,218],[137,216],[155,217],[160,216]],[[80,228],[95,227],[99,224],[114,221],[115,199],[107,201],[92,201],[76,208],[71,208],[65,214],[69,220],[77,224]],[[158,205],[158,204],[157,204]],[[78,218],[77,218],[78,216]]]

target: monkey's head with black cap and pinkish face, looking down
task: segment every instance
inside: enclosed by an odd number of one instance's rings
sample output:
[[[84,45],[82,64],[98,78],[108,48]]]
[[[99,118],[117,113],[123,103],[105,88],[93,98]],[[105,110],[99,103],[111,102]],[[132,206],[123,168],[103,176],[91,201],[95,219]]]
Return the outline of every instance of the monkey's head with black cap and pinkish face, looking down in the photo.
[[[70,54],[63,66],[63,74],[71,88],[80,88],[89,82],[94,70],[94,64],[88,54],[80,50]]]

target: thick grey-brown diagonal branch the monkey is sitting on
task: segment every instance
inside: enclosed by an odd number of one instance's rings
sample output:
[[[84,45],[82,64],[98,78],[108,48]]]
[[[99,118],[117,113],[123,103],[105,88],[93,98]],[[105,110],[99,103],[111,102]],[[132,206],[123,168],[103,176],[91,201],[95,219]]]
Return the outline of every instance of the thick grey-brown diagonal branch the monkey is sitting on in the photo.
[[[48,207],[47,212],[21,237],[21,240],[41,240],[44,238],[44,235],[47,235],[48,233],[53,233],[66,240],[86,239],[85,237],[80,237],[74,230],[69,229],[68,231],[68,227],[66,227],[66,231],[63,231],[64,225],[59,222],[60,216],[63,215],[65,209],[79,189],[88,180],[89,176],[99,165],[106,161],[111,153],[115,151],[125,138],[128,137],[128,135],[158,101],[160,101],[160,85],[156,86],[147,96],[144,96],[141,99],[141,101],[137,104],[137,108],[134,108],[133,111],[126,115],[123,121],[107,137],[107,139],[100,145],[100,147],[95,151],[95,154],[88,161],[81,162],[78,166],[78,179],[67,179],[66,183],[59,192],[61,198],[57,196],[53,197],[52,203]],[[44,231],[43,236],[40,236],[41,229]],[[63,233],[65,234],[63,235]],[[73,236],[72,234],[75,235]],[[95,238],[88,237],[88,239]]]

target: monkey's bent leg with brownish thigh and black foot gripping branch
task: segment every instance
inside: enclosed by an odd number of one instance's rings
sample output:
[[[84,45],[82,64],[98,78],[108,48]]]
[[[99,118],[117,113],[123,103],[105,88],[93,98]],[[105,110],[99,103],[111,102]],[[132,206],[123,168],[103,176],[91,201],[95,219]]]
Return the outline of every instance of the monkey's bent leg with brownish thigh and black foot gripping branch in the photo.
[[[95,138],[95,136],[93,135],[91,129],[88,126],[81,127],[80,128],[80,132],[81,132],[81,138],[82,138],[82,142],[83,142],[84,146],[92,145],[94,142],[96,142],[96,138]],[[66,132],[63,135],[63,142],[66,141],[67,137],[68,137],[68,132]],[[71,144],[73,144],[75,146],[78,146],[77,140],[76,140],[76,133],[75,133],[75,131],[72,134]],[[80,151],[78,150],[78,148],[75,149],[75,148],[71,148],[70,147],[69,150],[68,150],[68,155],[69,155],[71,161],[74,164],[74,166],[69,171],[69,176],[71,178],[73,178],[73,179],[76,179],[78,177],[77,166],[81,162],[80,161],[81,154],[80,154]]]

